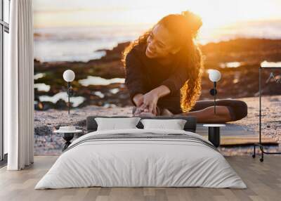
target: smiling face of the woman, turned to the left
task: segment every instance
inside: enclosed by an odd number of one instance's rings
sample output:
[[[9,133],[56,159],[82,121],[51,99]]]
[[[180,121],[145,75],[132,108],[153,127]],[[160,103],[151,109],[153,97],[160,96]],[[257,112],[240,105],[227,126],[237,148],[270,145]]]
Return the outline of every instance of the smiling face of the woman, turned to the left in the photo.
[[[148,58],[164,58],[178,51],[169,31],[163,25],[155,25],[148,37],[145,55]]]

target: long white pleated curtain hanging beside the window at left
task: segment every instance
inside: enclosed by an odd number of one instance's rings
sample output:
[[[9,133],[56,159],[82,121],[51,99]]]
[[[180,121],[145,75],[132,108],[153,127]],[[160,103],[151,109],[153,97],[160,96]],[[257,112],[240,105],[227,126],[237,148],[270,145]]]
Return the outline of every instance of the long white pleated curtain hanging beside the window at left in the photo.
[[[4,69],[4,131],[8,170],[33,163],[34,84],[32,0],[12,0],[9,65]]]

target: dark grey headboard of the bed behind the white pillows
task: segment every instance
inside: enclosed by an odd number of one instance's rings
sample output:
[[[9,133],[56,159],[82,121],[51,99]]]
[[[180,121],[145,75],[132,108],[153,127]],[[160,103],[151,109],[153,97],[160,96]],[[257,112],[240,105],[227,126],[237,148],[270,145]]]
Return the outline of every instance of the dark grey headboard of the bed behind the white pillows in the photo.
[[[96,131],[98,128],[98,124],[95,120],[96,117],[104,117],[104,118],[128,118],[128,116],[89,116],[86,118],[86,129],[87,133]],[[195,133],[196,132],[196,124],[197,124],[197,119],[194,116],[178,116],[178,117],[171,117],[171,116],[158,116],[158,117],[141,117],[141,119],[185,119],[186,123],[184,126],[185,131],[190,131]],[[143,124],[138,122],[137,126],[138,129],[143,129]]]

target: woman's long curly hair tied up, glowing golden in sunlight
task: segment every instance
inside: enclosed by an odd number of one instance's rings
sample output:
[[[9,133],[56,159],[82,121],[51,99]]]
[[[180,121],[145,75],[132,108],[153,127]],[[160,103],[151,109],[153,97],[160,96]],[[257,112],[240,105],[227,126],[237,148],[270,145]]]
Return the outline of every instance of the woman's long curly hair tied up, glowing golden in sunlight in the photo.
[[[178,54],[178,60],[181,65],[186,67],[189,74],[189,79],[181,87],[181,110],[183,112],[190,111],[196,103],[196,100],[201,94],[201,79],[204,71],[202,62],[202,53],[199,46],[195,42],[197,32],[202,26],[202,20],[199,16],[184,11],[181,14],[166,15],[159,20],[156,25],[163,25],[174,37],[176,44],[181,46],[181,51]],[[146,45],[148,37],[152,32],[153,27],[132,41],[122,52],[122,63],[126,67],[126,56],[135,46]]]

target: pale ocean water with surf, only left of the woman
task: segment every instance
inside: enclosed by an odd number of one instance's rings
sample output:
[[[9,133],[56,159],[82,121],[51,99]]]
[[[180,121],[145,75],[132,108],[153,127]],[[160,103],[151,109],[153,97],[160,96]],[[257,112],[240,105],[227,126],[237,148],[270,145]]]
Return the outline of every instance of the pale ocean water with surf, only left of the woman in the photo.
[[[45,28],[34,30],[34,58],[41,62],[84,61],[105,55],[118,43],[136,39],[141,26]]]

